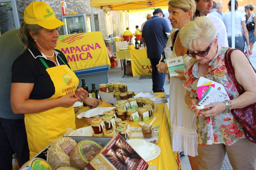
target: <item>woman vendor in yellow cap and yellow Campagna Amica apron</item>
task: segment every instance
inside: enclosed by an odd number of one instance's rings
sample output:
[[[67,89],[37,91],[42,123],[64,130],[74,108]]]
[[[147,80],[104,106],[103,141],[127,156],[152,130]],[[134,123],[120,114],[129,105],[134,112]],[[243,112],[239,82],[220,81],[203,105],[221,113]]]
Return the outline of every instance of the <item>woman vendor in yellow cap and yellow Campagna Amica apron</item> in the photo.
[[[11,106],[25,114],[30,158],[75,129],[73,104],[82,101],[91,108],[98,100],[77,89],[79,80],[64,54],[54,49],[58,27],[64,25],[44,2],[32,2],[24,11],[19,38],[24,52],[14,61],[11,78]]]

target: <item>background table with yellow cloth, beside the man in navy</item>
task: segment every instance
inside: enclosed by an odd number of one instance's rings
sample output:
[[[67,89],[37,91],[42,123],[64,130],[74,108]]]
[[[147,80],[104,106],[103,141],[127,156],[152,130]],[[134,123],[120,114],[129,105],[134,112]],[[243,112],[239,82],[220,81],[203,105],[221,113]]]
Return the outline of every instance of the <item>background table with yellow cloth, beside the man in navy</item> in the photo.
[[[126,59],[131,59],[133,76],[152,74],[151,63],[146,50],[117,50],[116,57],[117,60],[123,60],[124,76],[126,75]]]

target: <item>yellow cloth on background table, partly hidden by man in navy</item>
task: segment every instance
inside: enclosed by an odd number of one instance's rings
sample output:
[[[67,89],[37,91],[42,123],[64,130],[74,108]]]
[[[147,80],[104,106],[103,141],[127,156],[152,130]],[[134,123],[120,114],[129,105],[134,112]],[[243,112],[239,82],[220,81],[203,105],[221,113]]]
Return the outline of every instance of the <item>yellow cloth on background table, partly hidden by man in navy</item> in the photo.
[[[152,75],[152,66],[146,50],[130,50],[133,76]]]

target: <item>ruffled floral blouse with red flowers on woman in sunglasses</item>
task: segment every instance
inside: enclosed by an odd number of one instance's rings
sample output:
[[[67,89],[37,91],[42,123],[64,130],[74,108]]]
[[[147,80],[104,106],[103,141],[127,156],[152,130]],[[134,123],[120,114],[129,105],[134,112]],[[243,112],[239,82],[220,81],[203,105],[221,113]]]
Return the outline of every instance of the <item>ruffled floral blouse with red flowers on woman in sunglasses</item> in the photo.
[[[224,86],[230,100],[239,96],[225,66],[225,52],[229,47],[218,46],[217,55],[209,63],[206,72],[207,79],[220,83]],[[183,86],[191,92],[192,98],[197,97],[197,83],[199,79],[198,62],[192,58],[185,69],[187,81]],[[245,138],[241,124],[233,117],[231,112],[222,112],[215,117],[197,116],[198,143],[200,145],[211,145],[223,143],[233,145],[241,138]]]

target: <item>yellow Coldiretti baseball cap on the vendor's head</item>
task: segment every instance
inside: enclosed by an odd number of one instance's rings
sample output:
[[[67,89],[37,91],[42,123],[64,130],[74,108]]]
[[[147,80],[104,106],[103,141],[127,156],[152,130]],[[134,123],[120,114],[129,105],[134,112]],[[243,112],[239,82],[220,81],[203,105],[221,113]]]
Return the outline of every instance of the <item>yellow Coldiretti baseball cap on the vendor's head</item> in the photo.
[[[38,24],[46,29],[55,29],[65,25],[55,17],[52,8],[41,1],[34,1],[24,11],[24,22],[26,24]]]

